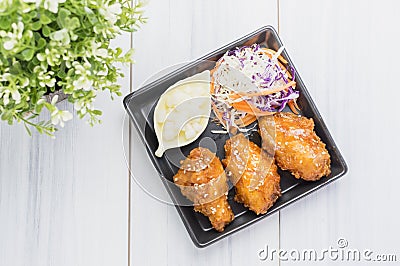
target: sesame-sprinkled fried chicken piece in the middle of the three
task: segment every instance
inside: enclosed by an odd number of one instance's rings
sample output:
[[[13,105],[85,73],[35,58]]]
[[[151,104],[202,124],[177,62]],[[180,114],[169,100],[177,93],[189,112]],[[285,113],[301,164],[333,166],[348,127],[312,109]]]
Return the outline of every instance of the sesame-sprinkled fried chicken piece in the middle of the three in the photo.
[[[225,155],[222,162],[235,184],[235,200],[257,215],[266,213],[281,195],[280,176],[274,158],[243,134],[226,141]]]

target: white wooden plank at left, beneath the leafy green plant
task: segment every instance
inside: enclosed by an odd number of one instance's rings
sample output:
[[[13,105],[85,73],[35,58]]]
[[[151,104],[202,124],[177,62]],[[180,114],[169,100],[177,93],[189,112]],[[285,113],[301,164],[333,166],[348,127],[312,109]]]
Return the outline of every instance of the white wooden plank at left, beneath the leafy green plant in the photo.
[[[130,47],[130,34],[116,42]],[[123,67],[123,93],[130,86]],[[126,265],[128,174],[121,99],[99,94],[103,124],[74,118],[55,140],[0,125],[0,265]],[[72,111],[67,102],[60,108]]]

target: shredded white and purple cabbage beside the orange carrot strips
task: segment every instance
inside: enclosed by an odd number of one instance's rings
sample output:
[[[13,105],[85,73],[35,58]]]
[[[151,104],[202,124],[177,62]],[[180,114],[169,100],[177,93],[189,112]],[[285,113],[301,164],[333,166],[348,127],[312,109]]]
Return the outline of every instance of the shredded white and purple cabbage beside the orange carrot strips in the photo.
[[[280,49],[278,53],[283,50]],[[291,75],[292,80],[289,80],[289,75],[285,69],[282,69],[279,65],[277,57],[279,54],[275,54],[270,58],[267,54],[262,51],[259,44],[253,44],[251,46],[242,46],[232,49],[225,53],[220,58],[218,64],[226,64],[229,67],[239,70],[241,75],[245,75],[249,81],[256,85],[250,88],[254,90],[257,88],[259,91],[268,91],[271,89],[279,88],[288,84],[291,81],[295,81],[296,73],[295,69],[288,65],[288,72]],[[243,87],[244,83],[240,80],[240,77],[235,76],[234,71],[229,72],[230,68],[225,68],[224,71],[214,72],[213,78],[215,81],[215,93],[217,97],[213,97],[214,104],[222,112],[222,118],[228,125],[232,126],[232,107],[226,103],[225,90],[233,91],[247,91],[248,87]],[[220,67],[218,67],[220,68]],[[247,91],[253,92],[253,91]],[[221,96],[222,95],[222,96]],[[246,96],[244,97],[249,103],[261,111],[268,112],[280,112],[282,111],[287,103],[299,97],[299,92],[294,86],[291,86],[280,92],[276,92],[268,95],[261,96]],[[235,113],[235,115],[241,116],[242,114]],[[233,125],[234,126],[234,125]]]

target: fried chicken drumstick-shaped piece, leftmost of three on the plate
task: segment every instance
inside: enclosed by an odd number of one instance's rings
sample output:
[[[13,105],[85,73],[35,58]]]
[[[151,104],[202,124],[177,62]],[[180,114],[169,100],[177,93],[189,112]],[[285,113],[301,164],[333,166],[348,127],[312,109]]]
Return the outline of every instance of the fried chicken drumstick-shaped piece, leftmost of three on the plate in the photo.
[[[219,158],[206,148],[195,148],[174,176],[182,194],[194,203],[215,230],[224,231],[234,215],[228,203],[227,178]]]

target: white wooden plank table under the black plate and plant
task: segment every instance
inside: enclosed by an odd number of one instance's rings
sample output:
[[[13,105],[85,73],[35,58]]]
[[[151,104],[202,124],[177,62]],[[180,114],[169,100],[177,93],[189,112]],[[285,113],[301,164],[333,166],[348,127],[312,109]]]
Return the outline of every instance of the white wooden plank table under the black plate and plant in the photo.
[[[90,128],[74,119],[55,140],[1,123],[0,265],[306,265],[262,261],[258,253],[265,245],[320,251],[337,246],[339,238],[352,248],[397,252],[400,261],[399,10],[396,0],[150,0],[149,22],[134,36],[137,63],[125,67],[121,79],[125,94],[159,70],[273,25],[349,173],[198,249],[175,208],[130,178],[123,147],[136,173],[156,172],[135,130],[124,124],[122,99],[101,95],[102,125]],[[118,44],[130,47],[131,36]]]

